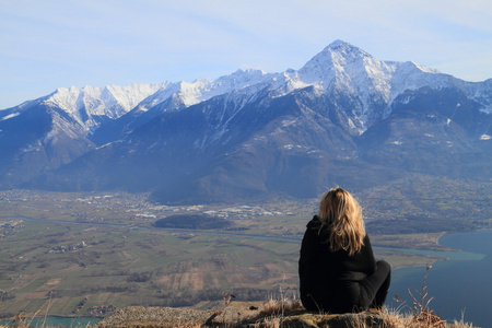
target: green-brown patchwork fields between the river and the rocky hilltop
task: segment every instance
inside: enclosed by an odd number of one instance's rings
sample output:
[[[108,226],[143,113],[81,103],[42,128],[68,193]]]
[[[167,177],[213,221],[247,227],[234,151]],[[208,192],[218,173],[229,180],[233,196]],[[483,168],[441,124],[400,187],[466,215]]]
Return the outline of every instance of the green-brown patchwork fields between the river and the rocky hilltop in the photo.
[[[86,247],[48,253],[84,242]],[[25,222],[3,238],[0,289],[14,296],[0,312],[86,315],[92,306],[212,306],[222,293],[265,300],[297,286],[298,243],[247,237],[176,234],[126,227],[87,227]],[[386,254],[394,265],[423,265],[427,258]]]

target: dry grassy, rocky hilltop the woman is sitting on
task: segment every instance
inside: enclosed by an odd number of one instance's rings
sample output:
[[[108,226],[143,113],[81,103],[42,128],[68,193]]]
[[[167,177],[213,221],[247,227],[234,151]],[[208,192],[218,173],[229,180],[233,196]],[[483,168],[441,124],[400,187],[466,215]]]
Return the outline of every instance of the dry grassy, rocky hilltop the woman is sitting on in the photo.
[[[472,324],[446,324],[438,316],[421,308],[414,314],[375,309],[359,314],[320,314],[306,312],[297,302],[267,303],[232,302],[221,309],[199,311],[169,307],[127,307],[103,319],[92,328],[172,328],[172,327],[235,327],[235,328],[469,328]]]

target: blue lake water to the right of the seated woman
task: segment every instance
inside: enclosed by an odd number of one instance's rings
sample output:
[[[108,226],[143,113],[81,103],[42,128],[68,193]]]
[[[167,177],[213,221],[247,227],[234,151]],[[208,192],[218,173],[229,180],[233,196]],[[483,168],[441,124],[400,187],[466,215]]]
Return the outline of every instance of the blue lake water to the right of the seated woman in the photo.
[[[440,244],[461,251],[432,253],[449,259],[429,270],[426,291],[434,297],[431,309],[448,321],[464,318],[473,326],[492,327],[492,231],[448,234]],[[393,298],[397,294],[411,306],[408,289],[419,295],[424,274],[423,267],[395,270],[387,303],[396,308],[399,304]]]

